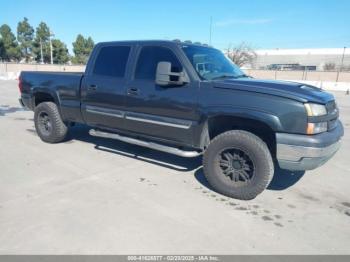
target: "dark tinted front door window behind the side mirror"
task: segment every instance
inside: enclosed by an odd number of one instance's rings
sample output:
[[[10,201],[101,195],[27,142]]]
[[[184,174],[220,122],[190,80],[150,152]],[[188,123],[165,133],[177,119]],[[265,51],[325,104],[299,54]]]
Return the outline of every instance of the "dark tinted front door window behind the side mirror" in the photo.
[[[173,72],[181,72],[182,65],[168,48],[157,46],[143,47],[136,65],[135,78],[154,80],[159,62],[170,62]]]

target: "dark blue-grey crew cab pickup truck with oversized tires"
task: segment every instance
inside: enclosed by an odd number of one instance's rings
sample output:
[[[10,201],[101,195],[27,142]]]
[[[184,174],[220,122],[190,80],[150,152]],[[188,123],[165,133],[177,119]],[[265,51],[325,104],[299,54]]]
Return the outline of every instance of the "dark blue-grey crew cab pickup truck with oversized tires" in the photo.
[[[218,49],[180,41],[99,43],[85,73],[21,72],[19,89],[44,142],[83,123],[92,136],[203,155],[212,188],[244,200],[266,189],[277,166],[324,164],[344,133],[333,95],[253,79]]]

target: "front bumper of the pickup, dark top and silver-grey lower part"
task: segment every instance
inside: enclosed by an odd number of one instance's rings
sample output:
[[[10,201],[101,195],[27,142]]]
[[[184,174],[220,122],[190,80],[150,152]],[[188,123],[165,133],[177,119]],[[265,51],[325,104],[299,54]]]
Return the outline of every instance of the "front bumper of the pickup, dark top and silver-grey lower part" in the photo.
[[[340,121],[337,127],[318,135],[277,133],[277,161],[282,169],[311,170],[326,163],[340,148],[344,135]]]

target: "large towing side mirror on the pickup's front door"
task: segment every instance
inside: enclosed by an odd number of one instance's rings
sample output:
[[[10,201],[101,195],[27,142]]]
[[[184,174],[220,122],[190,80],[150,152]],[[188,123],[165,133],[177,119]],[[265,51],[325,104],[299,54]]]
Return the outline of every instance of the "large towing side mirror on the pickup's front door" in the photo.
[[[156,84],[160,86],[182,86],[188,83],[187,74],[182,72],[172,72],[170,62],[159,62],[156,72]]]

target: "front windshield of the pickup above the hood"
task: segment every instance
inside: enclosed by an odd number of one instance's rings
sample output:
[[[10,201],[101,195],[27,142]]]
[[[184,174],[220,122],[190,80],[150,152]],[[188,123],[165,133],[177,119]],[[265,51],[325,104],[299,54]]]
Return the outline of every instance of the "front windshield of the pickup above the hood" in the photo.
[[[246,77],[221,51],[204,46],[182,46],[188,59],[204,80]]]

